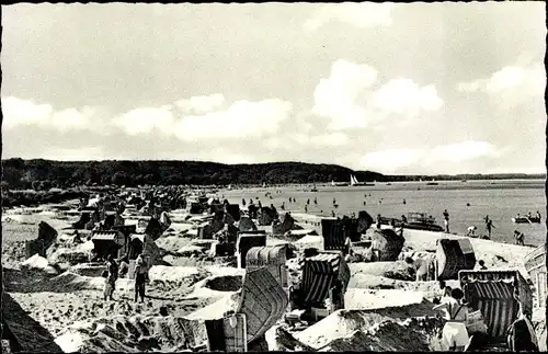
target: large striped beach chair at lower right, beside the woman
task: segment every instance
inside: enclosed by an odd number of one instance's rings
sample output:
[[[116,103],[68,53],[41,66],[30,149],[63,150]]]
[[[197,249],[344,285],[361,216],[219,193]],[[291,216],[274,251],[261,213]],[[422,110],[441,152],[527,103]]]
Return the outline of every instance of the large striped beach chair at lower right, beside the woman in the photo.
[[[505,343],[520,302],[526,313],[532,311],[532,289],[518,271],[460,271],[458,277],[466,301],[481,311],[492,343]]]

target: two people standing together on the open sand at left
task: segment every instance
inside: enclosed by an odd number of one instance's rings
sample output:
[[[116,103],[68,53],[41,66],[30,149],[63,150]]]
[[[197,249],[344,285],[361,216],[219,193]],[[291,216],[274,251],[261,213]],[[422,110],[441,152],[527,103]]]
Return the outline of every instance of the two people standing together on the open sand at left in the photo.
[[[112,254],[106,260],[106,270],[102,276],[105,278],[103,298],[104,300],[114,300],[114,290],[116,289],[116,281],[124,278],[129,272],[129,260],[127,255],[119,260],[119,265]],[[145,263],[142,253],[135,260],[135,302],[140,297],[140,301],[145,301],[145,284],[148,275],[148,266]]]

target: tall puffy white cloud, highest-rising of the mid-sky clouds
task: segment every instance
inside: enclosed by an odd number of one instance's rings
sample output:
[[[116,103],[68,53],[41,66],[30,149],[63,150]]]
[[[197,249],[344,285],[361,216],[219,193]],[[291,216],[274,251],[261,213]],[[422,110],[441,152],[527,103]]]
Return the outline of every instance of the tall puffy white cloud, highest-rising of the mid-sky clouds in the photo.
[[[376,79],[377,70],[367,65],[336,60],[316,87],[312,113],[331,118],[331,129],[367,126],[367,111],[355,101]]]

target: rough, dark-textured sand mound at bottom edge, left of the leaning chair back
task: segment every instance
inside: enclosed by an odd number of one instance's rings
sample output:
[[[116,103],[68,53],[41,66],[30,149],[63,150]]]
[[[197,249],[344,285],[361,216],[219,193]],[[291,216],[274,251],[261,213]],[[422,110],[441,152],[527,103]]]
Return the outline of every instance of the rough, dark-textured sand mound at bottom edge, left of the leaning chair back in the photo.
[[[65,352],[176,352],[206,340],[203,323],[176,317],[116,317],[70,328],[57,338]]]

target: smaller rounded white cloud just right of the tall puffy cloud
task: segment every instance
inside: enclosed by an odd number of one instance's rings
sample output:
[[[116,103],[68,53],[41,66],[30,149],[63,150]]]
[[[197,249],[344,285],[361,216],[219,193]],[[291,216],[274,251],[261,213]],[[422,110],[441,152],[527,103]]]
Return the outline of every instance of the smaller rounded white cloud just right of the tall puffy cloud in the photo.
[[[374,95],[373,105],[384,112],[408,113],[416,116],[421,110],[437,111],[443,105],[433,84],[419,87],[410,79],[395,79]]]

